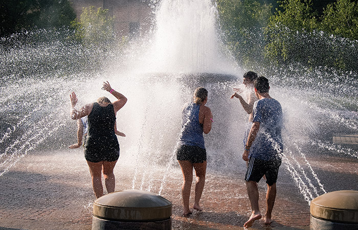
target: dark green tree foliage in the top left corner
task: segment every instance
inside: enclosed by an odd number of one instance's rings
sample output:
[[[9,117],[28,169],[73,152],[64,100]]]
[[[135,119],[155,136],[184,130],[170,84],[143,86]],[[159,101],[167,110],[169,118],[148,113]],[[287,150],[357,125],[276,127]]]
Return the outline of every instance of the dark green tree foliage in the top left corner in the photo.
[[[0,35],[21,30],[70,26],[76,13],[70,0],[16,0],[0,4]]]

